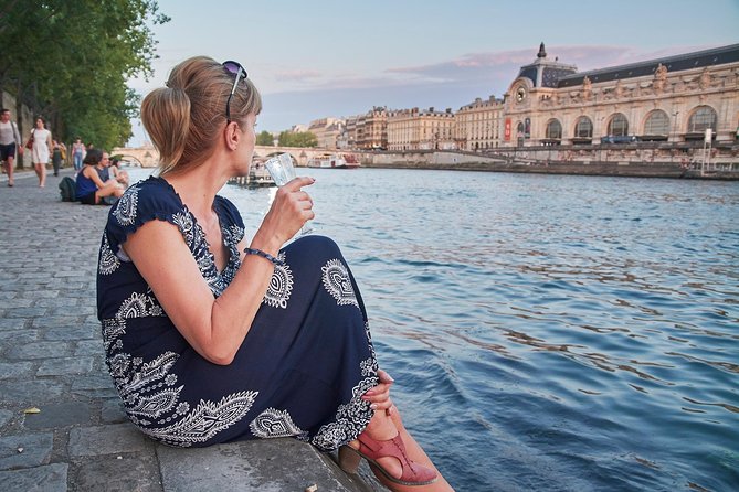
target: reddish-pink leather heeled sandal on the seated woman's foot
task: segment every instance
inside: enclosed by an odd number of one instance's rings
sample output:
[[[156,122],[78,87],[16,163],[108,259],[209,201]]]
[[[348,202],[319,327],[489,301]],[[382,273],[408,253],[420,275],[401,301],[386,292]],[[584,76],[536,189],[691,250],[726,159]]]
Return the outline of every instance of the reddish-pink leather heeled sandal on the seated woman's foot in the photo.
[[[357,473],[359,461],[365,458],[372,469],[379,470],[388,480],[400,485],[429,485],[436,481],[437,477],[434,470],[418,464],[408,457],[400,434],[387,441],[376,441],[365,434],[360,434],[358,440],[359,449],[349,445],[339,448],[339,467],[347,473]],[[377,462],[378,459],[386,457],[392,457],[400,461],[403,469],[400,478],[391,475]]]

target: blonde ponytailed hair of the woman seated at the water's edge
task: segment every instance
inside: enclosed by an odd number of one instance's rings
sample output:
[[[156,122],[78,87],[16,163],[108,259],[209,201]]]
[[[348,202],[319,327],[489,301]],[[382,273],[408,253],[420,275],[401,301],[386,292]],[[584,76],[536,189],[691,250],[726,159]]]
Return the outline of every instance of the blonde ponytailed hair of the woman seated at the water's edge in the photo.
[[[159,151],[159,173],[183,171],[202,163],[225,127],[225,104],[235,74],[207,56],[194,56],[172,68],[167,87],[154,89],[141,103],[141,121]],[[231,119],[242,122],[262,110],[262,97],[249,78],[236,85]]]

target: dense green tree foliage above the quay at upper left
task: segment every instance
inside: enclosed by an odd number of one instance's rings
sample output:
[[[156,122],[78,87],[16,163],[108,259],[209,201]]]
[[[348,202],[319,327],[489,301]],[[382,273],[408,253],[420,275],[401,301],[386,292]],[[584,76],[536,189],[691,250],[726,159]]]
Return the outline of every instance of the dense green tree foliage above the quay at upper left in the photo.
[[[0,7],[0,88],[46,119],[54,138],[125,143],[157,57],[156,0],[9,0]],[[15,113],[15,110],[13,110]]]

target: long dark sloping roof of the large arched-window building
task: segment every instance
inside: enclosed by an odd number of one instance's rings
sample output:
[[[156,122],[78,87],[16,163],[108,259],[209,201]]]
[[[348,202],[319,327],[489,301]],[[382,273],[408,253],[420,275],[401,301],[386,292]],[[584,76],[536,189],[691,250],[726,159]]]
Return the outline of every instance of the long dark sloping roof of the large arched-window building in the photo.
[[[611,82],[654,75],[654,72],[659,64],[667,68],[667,73],[672,73],[736,62],[739,62],[739,44],[730,44],[728,46],[696,51],[646,62],[630,63],[627,65],[612,66],[589,72],[578,72],[577,74],[561,77],[557,83],[557,87],[574,87],[582,85],[585,76],[594,84],[598,82]]]

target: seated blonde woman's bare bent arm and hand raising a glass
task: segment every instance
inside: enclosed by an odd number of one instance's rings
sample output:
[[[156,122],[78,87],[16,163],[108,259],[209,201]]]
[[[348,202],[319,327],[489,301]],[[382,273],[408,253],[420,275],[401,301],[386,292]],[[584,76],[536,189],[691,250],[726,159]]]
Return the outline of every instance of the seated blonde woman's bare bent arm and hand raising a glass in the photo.
[[[285,240],[313,217],[312,202],[299,191],[310,183],[309,178],[298,178],[277,192],[251,247],[276,256]],[[177,226],[147,222],[128,237],[124,250],[188,343],[210,362],[230,364],[252,328],[274,265],[246,255],[231,285],[214,299]]]

